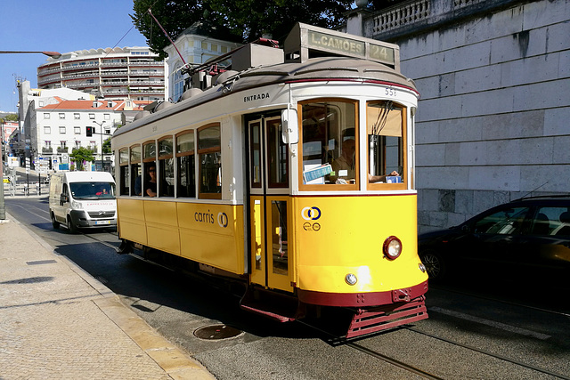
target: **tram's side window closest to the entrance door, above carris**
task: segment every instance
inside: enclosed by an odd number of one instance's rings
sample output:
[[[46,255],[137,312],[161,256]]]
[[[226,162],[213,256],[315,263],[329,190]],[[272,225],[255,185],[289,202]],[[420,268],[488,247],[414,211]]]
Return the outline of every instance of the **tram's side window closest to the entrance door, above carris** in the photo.
[[[220,125],[198,130],[199,198],[222,198],[222,137]]]

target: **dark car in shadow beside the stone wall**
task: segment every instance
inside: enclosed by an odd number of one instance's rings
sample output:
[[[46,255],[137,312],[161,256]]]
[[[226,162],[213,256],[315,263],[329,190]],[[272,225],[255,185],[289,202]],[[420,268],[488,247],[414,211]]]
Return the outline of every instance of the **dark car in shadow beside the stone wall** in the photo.
[[[570,197],[521,198],[448,230],[422,233],[419,257],[432,280],[467,272],[566,276]]]

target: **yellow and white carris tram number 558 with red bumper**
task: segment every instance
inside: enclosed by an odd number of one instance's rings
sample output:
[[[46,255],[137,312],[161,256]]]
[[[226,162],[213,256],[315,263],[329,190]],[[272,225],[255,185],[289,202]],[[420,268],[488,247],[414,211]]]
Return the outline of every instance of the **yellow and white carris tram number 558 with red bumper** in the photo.
[[[192,70],[181,101],[114,133],[120,252],[239,279],[241,307],[275,319],[349,308],[346,337],[428,318],[419,93],[398,47],[297,24],[283,49],[220,60],[231,69]]]

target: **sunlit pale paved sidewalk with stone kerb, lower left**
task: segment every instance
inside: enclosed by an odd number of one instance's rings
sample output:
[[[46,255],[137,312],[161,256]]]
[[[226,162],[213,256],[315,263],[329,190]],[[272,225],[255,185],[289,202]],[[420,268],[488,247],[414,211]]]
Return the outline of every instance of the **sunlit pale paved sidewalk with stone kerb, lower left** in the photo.
[[[0,379],[215,379],[6,214],[0,221]]]

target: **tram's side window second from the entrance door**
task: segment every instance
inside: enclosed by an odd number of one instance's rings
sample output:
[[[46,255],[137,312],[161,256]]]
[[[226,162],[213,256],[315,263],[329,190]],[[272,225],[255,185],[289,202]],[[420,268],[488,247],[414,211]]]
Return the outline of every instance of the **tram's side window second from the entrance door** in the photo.
[[[196,167],[194,159],[194,131],[176,135],[176,165],[178,168],[178,198],[196,198]]]

